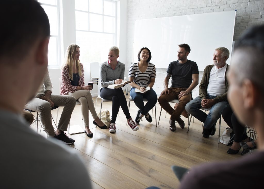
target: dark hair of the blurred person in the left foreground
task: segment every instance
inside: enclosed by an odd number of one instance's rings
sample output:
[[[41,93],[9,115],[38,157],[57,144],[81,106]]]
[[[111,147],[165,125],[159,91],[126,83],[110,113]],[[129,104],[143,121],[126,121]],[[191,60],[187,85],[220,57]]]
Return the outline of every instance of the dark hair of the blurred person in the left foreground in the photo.
[[[0,57],[23,58],[37,39],[50,36],[47,14],[35,0],[0,1]]]

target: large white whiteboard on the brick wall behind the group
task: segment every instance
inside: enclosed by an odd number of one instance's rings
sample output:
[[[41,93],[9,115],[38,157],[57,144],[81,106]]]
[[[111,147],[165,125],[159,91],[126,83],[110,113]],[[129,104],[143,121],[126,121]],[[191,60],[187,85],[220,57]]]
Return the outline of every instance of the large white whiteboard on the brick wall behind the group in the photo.
[[[150,62],[158,68],[167,68],[177,60],[178,44],[188,43],[191,52],[187,59],[195,61],[199,71],[213,64],[217,47],[230,51],[230,64],[236,11],[192,14],[135,21],[133,62],[138,51],[148,47],[152,54]]]

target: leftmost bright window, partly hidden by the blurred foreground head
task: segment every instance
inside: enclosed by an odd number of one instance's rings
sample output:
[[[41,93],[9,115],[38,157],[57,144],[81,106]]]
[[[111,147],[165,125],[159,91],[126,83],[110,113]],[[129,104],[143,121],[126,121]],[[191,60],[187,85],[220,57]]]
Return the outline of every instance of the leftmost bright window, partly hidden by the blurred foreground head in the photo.
[[[58,67],[60,65],[59,0],[38,0],[38,2],[48,15],[50,23],[48,66]]]

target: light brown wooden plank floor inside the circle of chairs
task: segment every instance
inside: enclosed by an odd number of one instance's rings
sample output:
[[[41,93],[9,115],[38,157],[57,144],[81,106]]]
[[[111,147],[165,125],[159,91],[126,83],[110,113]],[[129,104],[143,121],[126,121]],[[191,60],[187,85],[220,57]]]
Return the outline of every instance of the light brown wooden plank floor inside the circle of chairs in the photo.
[[[127,100],[129,97],[126,97]],[[94,98],[95,101],[96,98]],[[97,102],[96,110],[100,111],[101,101]],[[174,104],[172,104],[174,106]],[[111,112],[112,103],[105,102],[103,110]],[[160,106],[157,103],[157,123]],[[59,117],[63,107],[59,108]],[[130,114],[135,118],[138,108],[134,102],[130,104]],[[154,109],[153,109],[154,110]],[[56,119],[56,110],[52,111]],[[152,115],[152,111],[149,112]],[[93,138],[86,134],[74,134],[70,137],[76,142],[71,145],[82,157],[92,180],[93,188],[146,188],[157,186],[160,188],[178,188],[179,181],[171,170],[172,165],[180,165],[186,168],[201,163],[232,160],[241,158],[227,154],[228,146],[218,144],[218,126],[216,134],[209,138],[202,137],[202,123],[194,118],[190,131],[187,131],[187,118],[185,128],[181,129],[176,124],[176,132],[169,130],[169,115],[165,118],[165,111],[161,113],[161,120],[155,127],[155,113],[152,123],[145,118],[140,122],[138,131],[133,131],[126,126],[126,118],[120,108],[120,116],[116,121],[116,132],[109,133],[108,129],[102,130],[92,124],[93,119],[89,115],[90,129]],[[81,119],[81,105],[77,105],[73,111],[70,125],[84,124]],[[218,125],[219,123],[217,123]],[[227,124],[221,122],[221,134]],[[32,129],[35,129],[32,127]],[[41,135],[46,136],[45,132]],[[67,165],[65,165],[67,166]],[[78,184],[77,184],[78,185]]]

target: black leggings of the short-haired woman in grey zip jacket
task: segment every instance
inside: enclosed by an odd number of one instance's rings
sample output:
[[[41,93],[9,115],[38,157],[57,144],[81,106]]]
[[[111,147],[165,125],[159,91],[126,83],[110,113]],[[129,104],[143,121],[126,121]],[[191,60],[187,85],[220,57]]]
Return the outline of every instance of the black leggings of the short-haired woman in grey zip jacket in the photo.
[[[122,89],[102,88],[100,91],[100,96],[104,99],[113,101],[111,123],[115,123],[116,116],[118,114],[120,106],[126,116],[126,119],[131,118],[128,111],[128,104],[126,102],[126,97]]]

